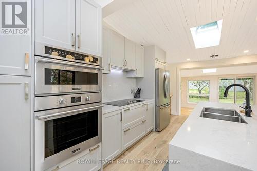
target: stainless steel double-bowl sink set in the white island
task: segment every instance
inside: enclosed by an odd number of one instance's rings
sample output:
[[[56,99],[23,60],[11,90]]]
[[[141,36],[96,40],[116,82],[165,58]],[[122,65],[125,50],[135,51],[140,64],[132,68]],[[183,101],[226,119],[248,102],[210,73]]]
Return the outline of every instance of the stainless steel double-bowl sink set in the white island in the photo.
[[[246,123],[236,110],[204,107],[200,117],[231,122]]]

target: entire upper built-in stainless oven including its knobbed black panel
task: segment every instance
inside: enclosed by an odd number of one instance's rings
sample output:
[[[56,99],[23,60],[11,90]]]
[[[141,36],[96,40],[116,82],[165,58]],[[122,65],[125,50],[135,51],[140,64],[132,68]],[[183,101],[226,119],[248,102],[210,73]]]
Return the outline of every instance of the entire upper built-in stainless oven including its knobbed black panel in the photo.
[[[103,68],[100,57],[47,48],[44,56],[35,56],[36,96],[102,90]]]

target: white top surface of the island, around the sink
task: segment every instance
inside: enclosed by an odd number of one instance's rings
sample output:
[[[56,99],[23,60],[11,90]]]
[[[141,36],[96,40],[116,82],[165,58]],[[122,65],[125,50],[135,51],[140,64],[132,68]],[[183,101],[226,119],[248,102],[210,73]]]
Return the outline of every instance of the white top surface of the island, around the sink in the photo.
[[[200,117],[203,107],[241,109],[235,104],[200,102],[170,142],[180,147],[246,169],[257,170],[257,106],[248,124]]]

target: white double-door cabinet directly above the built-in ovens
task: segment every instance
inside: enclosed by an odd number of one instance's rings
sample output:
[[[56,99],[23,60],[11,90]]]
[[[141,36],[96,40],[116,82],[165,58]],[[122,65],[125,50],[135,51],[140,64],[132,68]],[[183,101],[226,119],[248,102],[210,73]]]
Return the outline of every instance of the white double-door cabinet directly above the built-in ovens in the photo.
[[[102,8],[93,0],[36,0],[35,53],[53,46],[102,56]]]

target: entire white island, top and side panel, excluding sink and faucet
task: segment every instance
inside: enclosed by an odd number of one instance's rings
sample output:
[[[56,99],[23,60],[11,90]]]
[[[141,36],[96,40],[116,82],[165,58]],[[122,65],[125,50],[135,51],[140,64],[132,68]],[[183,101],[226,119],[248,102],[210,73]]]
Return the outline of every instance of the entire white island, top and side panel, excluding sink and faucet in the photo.
[[[235,104],[200,102],[169,144],[169,170],[257,170],[257,116],[248,124],[200,117],[203,107],[241,109]],[[257,106],[252,106],[257,114]],[[198,163],[197,163],[198,162]]]

